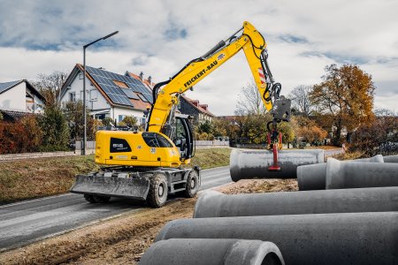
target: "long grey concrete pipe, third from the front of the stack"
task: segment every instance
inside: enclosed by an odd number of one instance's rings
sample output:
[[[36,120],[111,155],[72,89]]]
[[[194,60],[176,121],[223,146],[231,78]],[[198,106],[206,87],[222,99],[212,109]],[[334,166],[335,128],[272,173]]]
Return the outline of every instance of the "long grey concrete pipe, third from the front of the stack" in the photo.
[[[194,218],[398,211],[398,187],[291,193],[203,193]]]

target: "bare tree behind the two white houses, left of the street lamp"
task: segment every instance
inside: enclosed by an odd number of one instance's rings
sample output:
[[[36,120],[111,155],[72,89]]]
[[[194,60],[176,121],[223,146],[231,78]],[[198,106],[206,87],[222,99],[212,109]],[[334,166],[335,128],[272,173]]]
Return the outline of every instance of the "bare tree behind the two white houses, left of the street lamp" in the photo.
[[[68,73],[62,71],[54,71],[50,74],[39,73],[37,79],[31,83],[44,96],[46,104],[57,104],[61,87],[67,77]]]

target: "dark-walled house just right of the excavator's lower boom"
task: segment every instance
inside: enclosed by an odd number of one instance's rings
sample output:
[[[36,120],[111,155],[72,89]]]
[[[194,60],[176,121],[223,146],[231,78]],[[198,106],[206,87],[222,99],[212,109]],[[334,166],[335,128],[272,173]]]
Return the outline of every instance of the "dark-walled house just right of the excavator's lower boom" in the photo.
[[[208,108],[209,106],[207,104],[201,104],[198,100],[192,100],[186,95],[180,96],[178,109],[183,114],[193,116],[195,124],[212,121],[215,116],[208,110]]]

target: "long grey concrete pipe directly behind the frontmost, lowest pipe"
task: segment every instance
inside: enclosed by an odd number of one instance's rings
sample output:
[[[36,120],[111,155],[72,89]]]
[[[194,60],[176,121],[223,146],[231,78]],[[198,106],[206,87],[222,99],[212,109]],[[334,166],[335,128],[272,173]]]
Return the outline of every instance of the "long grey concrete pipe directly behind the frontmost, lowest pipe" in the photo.
[[[163,239],[258,239],[287,264],[398,264],[398,213],[345,213],[180,219]]]

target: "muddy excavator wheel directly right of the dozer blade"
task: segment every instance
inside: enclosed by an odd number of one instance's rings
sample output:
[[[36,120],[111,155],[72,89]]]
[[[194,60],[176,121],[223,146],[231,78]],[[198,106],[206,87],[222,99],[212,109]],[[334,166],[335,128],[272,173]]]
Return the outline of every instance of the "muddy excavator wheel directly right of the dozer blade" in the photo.
[[[150,207],[161,208],[165,205],[167,201],[167,178],[163,173],[155,173],[155,175],[150,178],[149,193],[147,197],[147,202]]]

